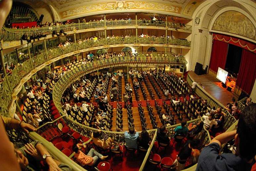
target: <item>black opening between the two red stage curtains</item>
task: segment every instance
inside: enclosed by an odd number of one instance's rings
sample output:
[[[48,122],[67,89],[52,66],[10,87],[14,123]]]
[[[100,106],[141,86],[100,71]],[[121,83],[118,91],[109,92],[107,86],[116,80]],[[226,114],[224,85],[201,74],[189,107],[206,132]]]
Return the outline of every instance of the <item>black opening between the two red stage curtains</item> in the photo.
[[[230,74],[238,74],[242,57],[242,48],[229,44],[225,70]]]

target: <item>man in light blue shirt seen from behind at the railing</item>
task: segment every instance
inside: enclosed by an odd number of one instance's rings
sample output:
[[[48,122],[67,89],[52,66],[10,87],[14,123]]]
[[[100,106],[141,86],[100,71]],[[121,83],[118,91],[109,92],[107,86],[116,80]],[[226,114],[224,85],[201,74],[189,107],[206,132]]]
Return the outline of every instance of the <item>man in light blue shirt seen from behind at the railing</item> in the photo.
[[[137,149],[137,138],[139,137],[139,133],[135,132],[133,127],[129,127],[129,132],[124,132],[124,140],[127,147]]]

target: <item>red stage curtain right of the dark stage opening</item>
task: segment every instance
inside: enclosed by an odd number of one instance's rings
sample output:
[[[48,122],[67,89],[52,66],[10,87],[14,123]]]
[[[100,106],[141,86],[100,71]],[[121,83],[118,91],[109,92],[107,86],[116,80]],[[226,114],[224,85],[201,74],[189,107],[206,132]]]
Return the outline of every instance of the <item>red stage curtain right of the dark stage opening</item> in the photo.
[[[256,78],[256,54],[243,49],[236,85],[251,93]]]

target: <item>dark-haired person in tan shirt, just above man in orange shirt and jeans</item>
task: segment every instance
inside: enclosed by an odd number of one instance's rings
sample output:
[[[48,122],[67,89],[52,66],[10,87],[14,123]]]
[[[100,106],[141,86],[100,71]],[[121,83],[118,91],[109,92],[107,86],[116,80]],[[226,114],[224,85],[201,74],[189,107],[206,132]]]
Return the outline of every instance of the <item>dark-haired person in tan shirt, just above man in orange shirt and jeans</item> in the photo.
[[[114,140],[112,140],[111,137],[108,137],[107,140],[105,140],[105,139],[101,140],[99,138],[101,133],[102,133],[101,130],[92,132],[91,138],[92,138],[93,143],[96,146],[105,150],[107,148],[110,148],[114,143],[116,143]]]

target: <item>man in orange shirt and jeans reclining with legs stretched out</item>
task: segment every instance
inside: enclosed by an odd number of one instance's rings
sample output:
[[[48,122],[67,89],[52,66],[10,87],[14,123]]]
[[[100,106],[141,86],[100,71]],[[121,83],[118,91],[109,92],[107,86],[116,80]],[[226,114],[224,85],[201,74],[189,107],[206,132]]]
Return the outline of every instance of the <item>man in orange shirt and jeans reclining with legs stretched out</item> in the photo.
[[[88,165],[93,166],[97,160],[100,158],[101,160],[105,160],[108,156],[103,156],[102,154],[98,153],[95,149],[91,149],[87,155],[81,152],[81,147],[86,148],[86,145],[77,144],[73,147],[73,151],[75,152],[75,158],[81,165]]]

